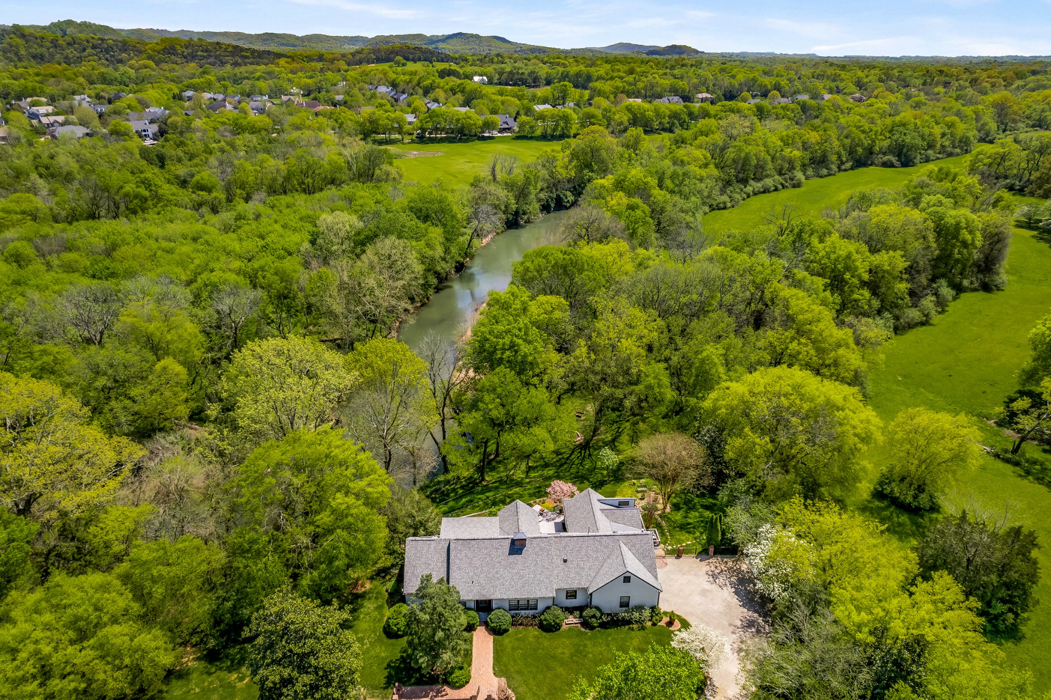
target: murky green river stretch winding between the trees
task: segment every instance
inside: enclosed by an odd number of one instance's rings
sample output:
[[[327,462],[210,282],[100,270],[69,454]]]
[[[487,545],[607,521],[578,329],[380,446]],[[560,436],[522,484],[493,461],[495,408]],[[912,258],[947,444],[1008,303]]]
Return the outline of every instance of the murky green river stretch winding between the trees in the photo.
[[[533,248],[559,243],[558,224],[564,215],[564,211],[555,211],[495,235],[459,274],[441,284],[427,304],[401,324],[398,339],[417,350],[427,334],[434,331],[451,350],[456,339],[467,333],[489,292],[508,288],[512,265]]]

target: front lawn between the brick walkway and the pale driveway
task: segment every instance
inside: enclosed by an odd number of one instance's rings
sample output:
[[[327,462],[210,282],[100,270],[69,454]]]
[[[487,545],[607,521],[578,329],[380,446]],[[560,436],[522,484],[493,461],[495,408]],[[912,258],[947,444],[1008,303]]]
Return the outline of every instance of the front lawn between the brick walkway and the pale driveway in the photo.
[[[555,633],[516,627],[495,639],[493,671],[508,679],[518,700],[561,700],[578,678],[594,678],[616,652],[641,652],[671,641],[672,632],[663,625],[592,632],[570,627]]]

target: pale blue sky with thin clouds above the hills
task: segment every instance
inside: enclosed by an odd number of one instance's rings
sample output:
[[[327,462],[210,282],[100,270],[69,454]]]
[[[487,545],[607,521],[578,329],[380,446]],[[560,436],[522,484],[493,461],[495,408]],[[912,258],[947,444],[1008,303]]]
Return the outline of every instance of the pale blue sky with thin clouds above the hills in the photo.
[[[0,23],[365,35],[475,32],[563,48],[618,41],[824,56],[1051,55],[1051,0],[0,0]]]

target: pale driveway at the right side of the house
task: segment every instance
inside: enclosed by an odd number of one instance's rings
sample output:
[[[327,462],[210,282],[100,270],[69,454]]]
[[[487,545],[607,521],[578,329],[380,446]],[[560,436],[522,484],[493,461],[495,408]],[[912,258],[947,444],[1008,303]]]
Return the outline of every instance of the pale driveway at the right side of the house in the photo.
[[[710,671],[705,696],[729,699],[741,692],[741,644],[768,632],[765,605],[753,590],[747,568],[737,559],[657,557],[661,585],[661,610],[675,611],[691,621],[722,633],[730,646],[729,657]],[[743,695],[743,694],[742,694]]]

